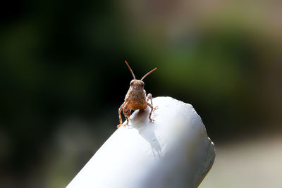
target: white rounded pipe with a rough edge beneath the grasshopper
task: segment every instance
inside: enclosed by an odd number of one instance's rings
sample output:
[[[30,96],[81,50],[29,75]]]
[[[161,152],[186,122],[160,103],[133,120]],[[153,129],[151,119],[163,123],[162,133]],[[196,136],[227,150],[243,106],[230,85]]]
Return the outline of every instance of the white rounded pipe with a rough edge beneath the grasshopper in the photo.
[[[214,144],[190,104],[157,97],[152,113],[135,111],[68,188],[197,187],[214,163]]]

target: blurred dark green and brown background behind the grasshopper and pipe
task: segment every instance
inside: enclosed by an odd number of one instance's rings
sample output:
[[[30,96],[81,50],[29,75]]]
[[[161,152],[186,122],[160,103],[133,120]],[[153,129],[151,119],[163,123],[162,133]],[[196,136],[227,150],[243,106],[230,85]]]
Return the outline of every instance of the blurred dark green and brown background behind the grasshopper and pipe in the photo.
[[[0,187],[66,187],[116,130],[125,60],[201,115],[217,156],[200,187],[281,186],[281,1],[6,3]]]

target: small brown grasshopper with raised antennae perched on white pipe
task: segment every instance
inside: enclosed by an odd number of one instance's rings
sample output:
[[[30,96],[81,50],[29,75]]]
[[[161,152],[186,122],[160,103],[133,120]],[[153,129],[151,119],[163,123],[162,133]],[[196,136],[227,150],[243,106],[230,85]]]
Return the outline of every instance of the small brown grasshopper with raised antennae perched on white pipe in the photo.
[[[128,65],[128,62],[125,61],[126,65]],[[120,124],[117,126],[117,128],[121,127],[123,125],[123,120],[121,119],[121,111],[123,111],[123,115],[125,116],[127,123],[125,125],[128,125],[129,117],[131,115],[131,110],[145,110],[147,106],[151,108],[151,111],[149,113],[149,120],[151,122],[154,122],[152,120],[151,115],[152,111],[154,111],[156,108],[153,107],[152,102],[152,94],[148,94],[146,96],[146,91],[144,89],[144,80],[147,75],[154,72],[154,70],[157,70],[157,68],[154,68],[153,70],[149,71],[145,76],[141,78],[141,80],[136,80],[135,75],[133,73],[133,70],[131,70],[130,66],[128,65],[128,68],[130,70],[130,73],[133,75],[133,79],[130,82],[130,87],[128,89],[128,93],[125,95],[124,103],[121,105],[120,108],[118,108],[118,116],[119,116],[119,122]],[[150,100],[151,104],[148,103]]]

